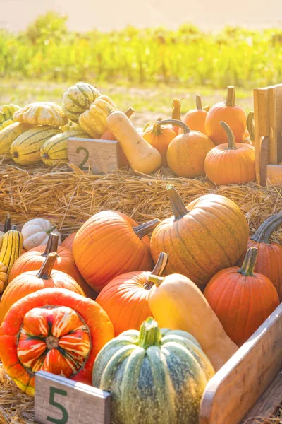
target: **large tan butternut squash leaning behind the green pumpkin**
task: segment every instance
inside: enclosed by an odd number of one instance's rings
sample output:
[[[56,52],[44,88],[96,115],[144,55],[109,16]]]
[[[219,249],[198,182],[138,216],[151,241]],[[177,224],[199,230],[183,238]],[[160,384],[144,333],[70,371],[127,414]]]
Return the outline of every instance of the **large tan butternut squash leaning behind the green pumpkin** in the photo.
[[[160,327],[188,331],[217,371],[238,350],[204,295],[189,278],[150,275],[149,308]]]

